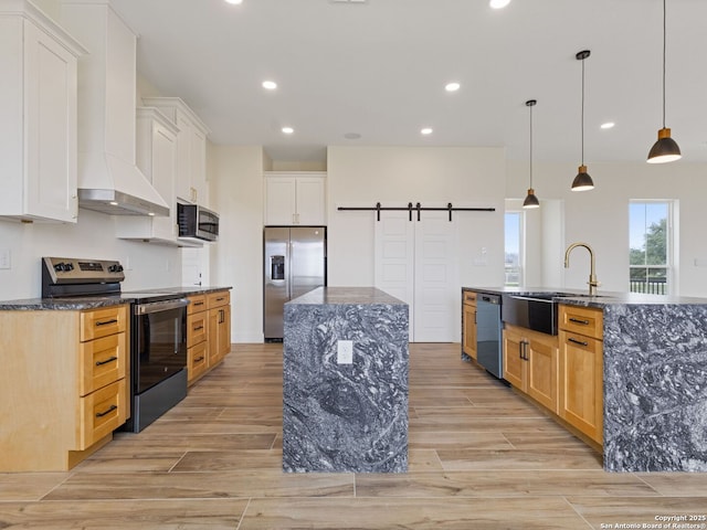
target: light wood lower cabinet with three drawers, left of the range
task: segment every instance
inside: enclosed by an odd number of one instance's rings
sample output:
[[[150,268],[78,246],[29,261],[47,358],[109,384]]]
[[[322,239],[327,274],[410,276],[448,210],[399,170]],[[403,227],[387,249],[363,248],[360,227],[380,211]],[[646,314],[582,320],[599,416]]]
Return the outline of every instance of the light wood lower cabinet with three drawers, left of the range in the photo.
[[[128,306],[0,311],[0,471],[67,470],[129,415]]]

